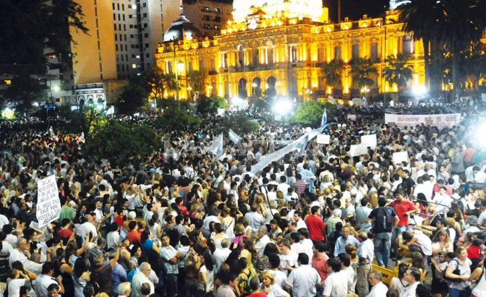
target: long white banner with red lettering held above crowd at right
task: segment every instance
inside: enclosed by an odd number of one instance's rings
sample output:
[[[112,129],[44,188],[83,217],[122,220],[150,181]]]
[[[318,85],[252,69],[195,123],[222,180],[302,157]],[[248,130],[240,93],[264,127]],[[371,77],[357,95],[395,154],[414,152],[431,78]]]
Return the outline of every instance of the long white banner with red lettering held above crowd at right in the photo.
[[[460,122],[460,113],[445,114],[390,114],[385,113],[385,123],[394,122],[397,126],[416,126],[424,123],[425,125],[441,127],[451,127]]]

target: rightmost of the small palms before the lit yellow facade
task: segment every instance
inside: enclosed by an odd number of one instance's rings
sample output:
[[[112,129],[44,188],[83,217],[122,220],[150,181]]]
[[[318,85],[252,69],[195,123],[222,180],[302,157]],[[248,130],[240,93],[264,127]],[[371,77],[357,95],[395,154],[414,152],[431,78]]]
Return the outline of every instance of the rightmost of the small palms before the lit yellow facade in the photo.
[[[400,89],[407,86],[407,81],[412,79],[413,68],[407,66],[408,55],[399,53],[398,55],[389,55],[385,59],[386,69],[383,73],[383,78],[389,85],[396,83],[398,86],[398,93]]]

